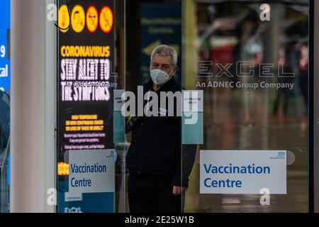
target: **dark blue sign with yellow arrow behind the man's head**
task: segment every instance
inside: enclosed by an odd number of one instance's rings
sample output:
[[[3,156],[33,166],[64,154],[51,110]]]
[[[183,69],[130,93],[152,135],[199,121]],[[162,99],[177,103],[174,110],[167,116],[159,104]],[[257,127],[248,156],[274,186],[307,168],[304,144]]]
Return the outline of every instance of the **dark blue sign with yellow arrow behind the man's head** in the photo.
[[[141,6],[141,74],[140,83],[150,79],[150,56],[157,45],[170,45],[178,54],[181,81],[181,4],[142,4]]]

